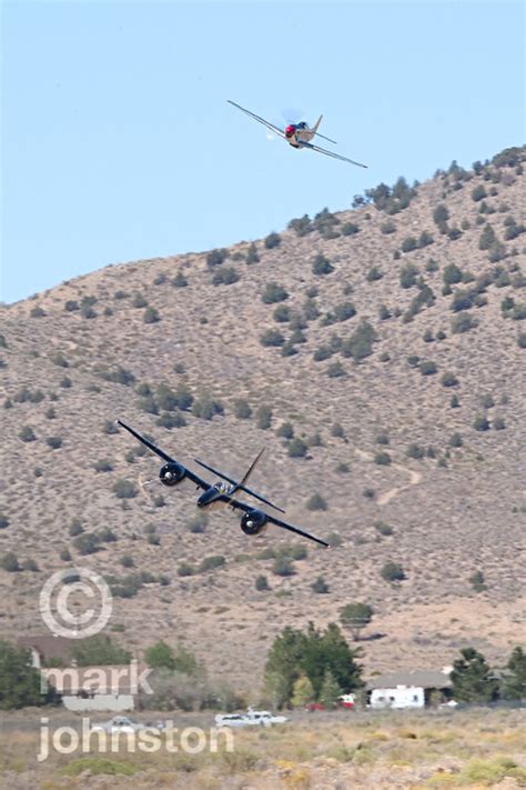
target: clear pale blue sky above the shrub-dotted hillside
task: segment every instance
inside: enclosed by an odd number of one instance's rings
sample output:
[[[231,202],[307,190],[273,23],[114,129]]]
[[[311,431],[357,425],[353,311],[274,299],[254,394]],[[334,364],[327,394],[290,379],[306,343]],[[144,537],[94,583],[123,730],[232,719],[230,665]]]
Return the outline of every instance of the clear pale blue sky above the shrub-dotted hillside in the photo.
[[[266,236],[524,142],[520,2],[24,2],[2,12],[6,302]],[[269,140],[314,120],[353,168]]]

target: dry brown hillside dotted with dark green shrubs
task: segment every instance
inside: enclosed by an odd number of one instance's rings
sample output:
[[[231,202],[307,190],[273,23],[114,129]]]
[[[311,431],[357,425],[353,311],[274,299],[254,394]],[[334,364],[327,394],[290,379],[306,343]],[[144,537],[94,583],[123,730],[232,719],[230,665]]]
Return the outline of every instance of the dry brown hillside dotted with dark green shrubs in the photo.
[[[44,630],[38,590],[73,561],[121,579],[152,573],[135,596],[114,599],[121,641],[183,640],[241,684],[260,676],[285,624],[323,626],[355,600],[374,607],[366,633],[385,634],[365,643],[370,670],[441,667],[466,644],[507,658],[524,634],[522,158],[439,171],[415,194],[406,189],[409,204],[393,214],[378,210],[376,190],[368,204],[322,213],[311,232],[295,223],[275,247],[273,237],[240,242],[219,266],[218,253],[111,266],[2,308],[0,556],[38,568],[0,569],[3,636]],[[247,263],[249,250],[259,260]],[[262,301],[269,283],[287,298]],[[357,359],[363,321],[375,340]],[[284,346],[263,346],[269,330]],[[159,384],[194,404],[163,411],[173,402]],[[247,419],[236,417],[240,400]],[[272,409],[267,429],[261,407]],[[295,573],[275,574],[271,550],[299,541],[274,528],[250,539],[227,512],[196,524],[191,487],[163,488],[156,460],[109,432],[118,417],[182,462],[196,456],[233,474],[265,446],[254,488],[334,548],[305,542]],[[169,430],[160,418],[185,424]],[[308,446],[304,457],[290,456],[283,423]],[[119,481],[136,496],[120,499]],[[314,493],[325,510],[307,507]],[[108,528],[117,541],[81,554],[70,534],[79,521],[83,534]],[[216,554],[223,566],[179,576]],[[382,578],[388,561],[405,580]],[[260,574],[270,590],[255,589]],[[312,590],[320,576],[328,593]]]

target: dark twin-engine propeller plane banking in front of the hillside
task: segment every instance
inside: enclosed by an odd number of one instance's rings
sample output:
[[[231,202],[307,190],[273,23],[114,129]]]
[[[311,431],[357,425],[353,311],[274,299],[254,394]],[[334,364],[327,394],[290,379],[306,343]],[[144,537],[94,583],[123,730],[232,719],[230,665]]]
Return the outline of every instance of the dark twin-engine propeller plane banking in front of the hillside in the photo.
[[[161,471],[159,472],[161,482],[164,486],[169,486],[171,488],[172,486],[178,486],[178,483],[182,482],[184,478],[188,478],[193,483],[195,483],[199,489],[202,489],[203,493],[201,493],[198,499],[198,508],[215,509],[221,506],[230,506],[233,510],[243,511],[243,516],[241,517],[241,529],[245,534],[259,534],[264,529],[266,529],[269,523],[272,523],[276,524],[276,527],[287,529],[290,532],[301,534],[303,538],[314,540],[316,543],[321,543],[321,546],[326,546],[328,548],[328,543],[326,543],[324,540],[315,538],[313,534],[308,534],[308,532],[305,532],[304,530],[299,529],[297,527],[292,527],[291,524],[287,524],[284,521],[276,519],[274,516],[270,516],[270,513],[265,513],[263,512],[263,510],[246,504],[245,502],[241,502],[239,499],[234,498],[234,494],[237,493],[237,491],[244,491],[245,493],[251,494],[251,497],[255,497],[255,499],[259,499],[260,502],[264,502],[271,508],[274,508],[274,510],[279,510],[282,513],[285,512],[284,510],[277,508],[275,504],[272,504],[272,502],[270,502],[267,499],[245,486],[250,476],[252,474],[252,471],[254,470],[255,464],[263,454],[263,450],[261,450],[256,459],[253,461],[253,463],[251,463],[241,482],[232,480],[223,472],[218,471],[213,467],[209,467],[208,463],[204,463],[203,461],[200,461],[195,458],[194,461],[201,467],[204,467],[204,469],[208,469],[214,474],[219,474],[220,478],[223,478],[222,480],[211,486],[205,480],[200,478],[199,474],[192,472],[191,469],[186,469],[186,467],[183,467],[182,463],[176,461],[174,458],[168,456],[159,447],[155,447],[155,444],[153,444],[149,439],[133,430],[133,428],[127,426],[125,422],[117,420],[117,423],[124,428],[127,431],[129,431],[140,442],[145,444],[145,447],[152,450],[152,452],[156,453],[160,458],[162,458],[163,461],[165,461],[165,464],[161,467]]]

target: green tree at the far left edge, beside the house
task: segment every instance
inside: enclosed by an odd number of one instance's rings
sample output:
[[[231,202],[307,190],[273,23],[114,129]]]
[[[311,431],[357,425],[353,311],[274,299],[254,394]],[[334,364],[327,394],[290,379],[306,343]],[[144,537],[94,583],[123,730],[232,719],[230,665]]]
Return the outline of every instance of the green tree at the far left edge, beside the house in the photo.
[[[0,710],[49,704],[58,701],[52,687],[43,693],[40,672],[31,667],[31,651],[0,640]]]

